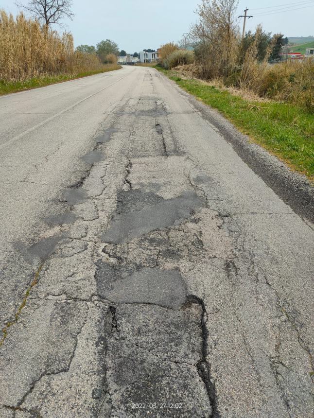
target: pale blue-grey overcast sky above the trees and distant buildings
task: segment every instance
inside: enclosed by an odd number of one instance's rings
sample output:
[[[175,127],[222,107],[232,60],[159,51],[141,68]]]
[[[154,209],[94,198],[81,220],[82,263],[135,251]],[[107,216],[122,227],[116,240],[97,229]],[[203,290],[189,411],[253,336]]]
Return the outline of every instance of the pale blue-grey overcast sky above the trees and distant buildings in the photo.
[[[75,17],[72,22],[64,23],[72,32],[76,46],[96,45],[100,40],[109,38],[117,42],[120,49],[133,53],[178,41],[196,21],[194,11],[199,2],[73,0]],[[281,32],[285,36],[314,35],[314,0],[240,0],[238,15],[243,14],[246,6],[249,8],[248,14],[254,16],[247,20],[247,30],[254,30],[258,23],[262,23],[267,32]],[[7,12],[17,13],[13,0],[0,0],[0,7]],[[243,19],[239,19],[239,24],[242,28]]]

